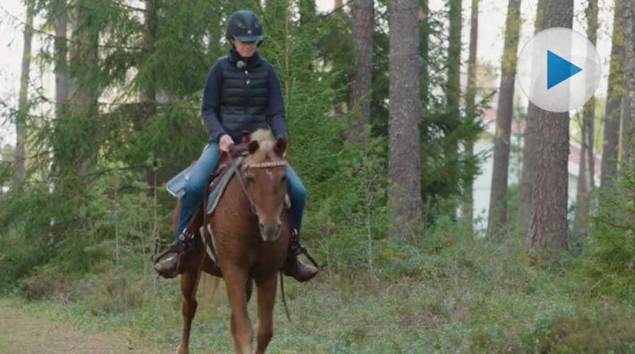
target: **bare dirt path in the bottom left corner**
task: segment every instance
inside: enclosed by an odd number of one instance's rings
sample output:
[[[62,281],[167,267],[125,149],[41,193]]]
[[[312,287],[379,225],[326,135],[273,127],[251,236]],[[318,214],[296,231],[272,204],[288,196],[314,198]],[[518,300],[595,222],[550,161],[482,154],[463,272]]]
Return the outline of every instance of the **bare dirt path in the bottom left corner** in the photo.
[[[150,353],[130,338],[86,333],[68,324],[33,317],[0,299],[0,353]]]

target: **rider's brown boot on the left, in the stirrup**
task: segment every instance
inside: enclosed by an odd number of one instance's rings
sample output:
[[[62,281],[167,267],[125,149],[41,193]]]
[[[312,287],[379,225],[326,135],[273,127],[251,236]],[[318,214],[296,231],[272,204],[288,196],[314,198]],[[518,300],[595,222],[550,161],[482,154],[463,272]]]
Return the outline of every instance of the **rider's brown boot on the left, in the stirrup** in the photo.
[[[165,279],[182,274],[194,249],[195,234],[185,228],[181,235],[170,245],[170,248],[155,257],[155,270]],[[169,257],[161,260],[165,255]]]

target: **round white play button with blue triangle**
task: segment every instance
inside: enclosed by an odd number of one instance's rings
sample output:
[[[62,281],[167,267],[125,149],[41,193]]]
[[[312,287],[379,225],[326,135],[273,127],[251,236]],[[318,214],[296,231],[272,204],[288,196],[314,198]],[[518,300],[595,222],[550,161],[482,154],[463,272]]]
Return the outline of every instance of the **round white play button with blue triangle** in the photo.
[[[600,84],[600,56],[586,37],[569,28],[549,28],[524,45],[517,82],[536,106],[565,112],[582,106]]]

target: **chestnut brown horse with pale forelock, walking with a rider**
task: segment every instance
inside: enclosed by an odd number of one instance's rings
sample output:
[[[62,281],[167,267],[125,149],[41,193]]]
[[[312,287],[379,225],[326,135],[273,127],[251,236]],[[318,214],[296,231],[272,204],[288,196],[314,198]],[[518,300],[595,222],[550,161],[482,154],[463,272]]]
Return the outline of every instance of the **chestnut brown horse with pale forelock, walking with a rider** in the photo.
[[[214,214],[207,220],[218,267],[207,257],[202,241],[197,239],[194,255],[181,275],[183,334],[179,353],[188,353],[201,271],[222,276],[225,281],[236,353],[253,353],[253,329],[247,303],[255,282],[258,289],[255,353],[265,352],[273,336],[277,275],[286,259],[291,233],[284,207],[285,149],[284,140],[274,142],[264,140],[262,134],[252,135],[248,156],[229,181]],[[202,218],[202,212],[195,217]]]

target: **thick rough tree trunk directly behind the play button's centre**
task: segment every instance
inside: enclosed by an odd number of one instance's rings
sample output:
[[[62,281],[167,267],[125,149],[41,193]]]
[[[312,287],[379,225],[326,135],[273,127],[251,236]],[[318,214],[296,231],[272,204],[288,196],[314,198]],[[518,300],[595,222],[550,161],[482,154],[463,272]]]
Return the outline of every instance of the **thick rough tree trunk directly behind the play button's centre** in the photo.
[[[573,25],[573,0],[548,0],[545,28]],[[569,178],[569,112],[539,109],[536,181],[531,203],[528,238],[532,247],[555,256],[567,250],[567,184]]]

